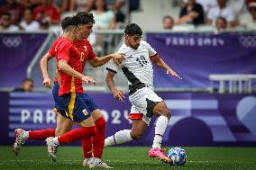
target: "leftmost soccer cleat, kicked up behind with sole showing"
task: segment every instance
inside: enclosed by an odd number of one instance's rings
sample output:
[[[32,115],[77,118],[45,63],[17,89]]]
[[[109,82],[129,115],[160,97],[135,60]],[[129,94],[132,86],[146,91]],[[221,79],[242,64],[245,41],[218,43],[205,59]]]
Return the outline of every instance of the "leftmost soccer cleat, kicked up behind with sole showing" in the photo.
[[[16,139],[15,139],[13,151],[15,156],[18,156],[22,145],[28,139],[28,135],[25,134],[25,130],[22,130],[22,129],[14,130],[14,133],[15,133]]]

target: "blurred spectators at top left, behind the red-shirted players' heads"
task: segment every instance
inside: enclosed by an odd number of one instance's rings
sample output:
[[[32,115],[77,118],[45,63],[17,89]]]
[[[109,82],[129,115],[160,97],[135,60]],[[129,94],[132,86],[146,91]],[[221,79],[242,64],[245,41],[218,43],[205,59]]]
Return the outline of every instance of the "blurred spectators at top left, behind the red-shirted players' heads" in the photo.
[[[131,1],[132,2],[132,1]],[[134,4],[134,2],[137,2]],[[69,13],[93,13],[96,29],[115,29],[129,20],[139,1],[128,0],[2,0],[0,31],[48,30]],[[130,5],[131,4],[131,5]]]

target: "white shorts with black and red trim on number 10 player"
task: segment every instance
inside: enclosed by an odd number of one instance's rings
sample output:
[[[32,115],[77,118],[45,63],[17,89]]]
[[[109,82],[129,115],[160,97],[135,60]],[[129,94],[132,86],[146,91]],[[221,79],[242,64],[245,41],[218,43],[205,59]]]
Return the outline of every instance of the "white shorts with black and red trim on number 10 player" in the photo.
[[[138,90],[135,94],[129,96],[129,100],[133,104],[129,118],[131,120],[142,119],[148,125],[151,122],[155,105],[163,101],[150,87],[143,87]]]

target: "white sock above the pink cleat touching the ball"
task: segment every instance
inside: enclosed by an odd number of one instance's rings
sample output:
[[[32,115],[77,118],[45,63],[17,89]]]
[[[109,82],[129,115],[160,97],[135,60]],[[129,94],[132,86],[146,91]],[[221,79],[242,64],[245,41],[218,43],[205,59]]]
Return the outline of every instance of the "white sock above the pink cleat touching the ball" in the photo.
[[[168,118],[166,116],[160,116],[155,128],[155,137],[153,141],[152,148],[160,148],[161,146],[161,140],[163,137],[163,134],[166,130],[167,124],[168,124]]]

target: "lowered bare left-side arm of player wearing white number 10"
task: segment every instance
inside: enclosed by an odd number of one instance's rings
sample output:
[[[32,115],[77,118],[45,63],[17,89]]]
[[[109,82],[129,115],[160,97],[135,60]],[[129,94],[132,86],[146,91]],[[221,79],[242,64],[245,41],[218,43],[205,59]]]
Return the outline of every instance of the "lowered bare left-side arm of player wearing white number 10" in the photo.
[[[114,73],[112,71],[108,71],[106,78],[105,78],[105,82],[106,82],[106,85],[109,87],[110,91],[112,92],[112,94],[114,95],[114,98],[121,102],[124,102],[123,101],[123,99],[125,98],[124,93],[121,90],[118,90],[114,85],[113,78],[114,78],[115,74],[116,73]]]

